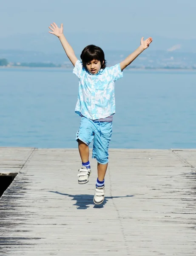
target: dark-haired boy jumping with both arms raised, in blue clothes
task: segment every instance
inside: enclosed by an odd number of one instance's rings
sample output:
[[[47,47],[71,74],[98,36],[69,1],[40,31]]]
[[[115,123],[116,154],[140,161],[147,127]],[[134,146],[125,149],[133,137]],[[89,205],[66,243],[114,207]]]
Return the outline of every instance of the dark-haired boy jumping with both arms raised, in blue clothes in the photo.
[[[73,73],[79,78],[79,94],[75,112],[81,116],[80,128],[76,134],[82,167],[79,169],[78,183],[85,184],[91,175],[89,144],[93,142],[92,158],[97,160],[97,182],[94,204],[102,204],[105,187],[104,178],[108,167],[108,147],[112,135],[112,120],[115,113],[114,82],[122,78],[122,71],[145,49],[152,38],[144,41],[125,60],[113,67],[106,67],[105,55],[100,47],[88,45],[78,60],[74,50],[63,35],[63,26],[56,23],[49,26],[49,33],[56,35],[66,55],[74,65]]]

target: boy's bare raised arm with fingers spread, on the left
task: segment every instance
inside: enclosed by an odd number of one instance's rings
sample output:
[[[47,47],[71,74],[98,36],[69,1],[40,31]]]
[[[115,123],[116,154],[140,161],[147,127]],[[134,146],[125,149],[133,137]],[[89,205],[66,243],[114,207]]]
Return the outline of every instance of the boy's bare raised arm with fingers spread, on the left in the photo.
[[[58,28],[56,23],[52,23],[51,27],[49,26],[49,29],[51,29],[51,31],[49,31],[49,33],[56,35],[61,44],[63,49],[65,50],[66,55],[68,56],[68,58],[70,59],[71,63],[75,66],[76,61],[77,61],[77,57],[74,53],[73,48],[71,47],[71,45],[68,43],[67,39],[65,38],[65,36],[63,35],[63,25],[61,24],[60,28]]]

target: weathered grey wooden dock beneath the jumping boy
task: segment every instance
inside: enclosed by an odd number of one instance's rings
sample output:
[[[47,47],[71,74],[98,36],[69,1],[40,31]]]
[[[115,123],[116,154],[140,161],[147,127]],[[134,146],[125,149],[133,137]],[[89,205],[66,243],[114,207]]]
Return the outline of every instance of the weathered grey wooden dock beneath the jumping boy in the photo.
[[[196,149],[110,149],[105,201],[96,160],[77,149],[0,148],[0,256],[196,255]]]

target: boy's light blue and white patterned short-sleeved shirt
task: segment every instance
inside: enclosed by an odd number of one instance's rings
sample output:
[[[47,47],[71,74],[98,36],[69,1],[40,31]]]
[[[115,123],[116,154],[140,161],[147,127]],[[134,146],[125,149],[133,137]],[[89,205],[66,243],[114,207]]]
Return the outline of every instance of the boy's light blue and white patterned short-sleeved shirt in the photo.
[[[101,69],[95,75],[77,60],[73,73],[79,78],[75,112],[88,119],[100,119],[115,113],[114,82],[123,76],[120,64]]]

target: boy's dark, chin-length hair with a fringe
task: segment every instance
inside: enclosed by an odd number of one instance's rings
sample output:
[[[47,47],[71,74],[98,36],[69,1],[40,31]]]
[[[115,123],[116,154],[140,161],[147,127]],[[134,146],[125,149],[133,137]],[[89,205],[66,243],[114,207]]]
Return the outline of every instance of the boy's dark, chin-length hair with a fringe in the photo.
[[[95,46],[94,44],[86,46],[83,49],[80,58],[82,60],[83,67],[85,67],[85,70],[87,70],[86,63],[92,60],[100,61],[102,69],[105,69],[106,67],[106,60],[103,50],[100,47]]]

